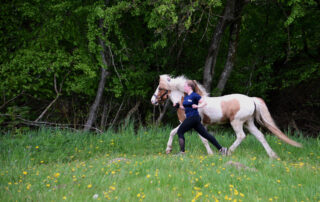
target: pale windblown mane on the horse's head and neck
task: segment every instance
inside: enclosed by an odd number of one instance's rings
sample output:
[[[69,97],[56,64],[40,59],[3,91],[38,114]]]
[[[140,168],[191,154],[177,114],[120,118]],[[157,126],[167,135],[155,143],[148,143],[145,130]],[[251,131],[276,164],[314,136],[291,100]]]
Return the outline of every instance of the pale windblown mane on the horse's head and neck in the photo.
[[[189,79],[184,75],[174,78],[168,74],[163,74],[160,75],[159,87],[166,90],[178,90],[184,92],[184,84],[187,80]],[[195,84],[196,93],[198,93],[201,97],[207,97],[209,95],[201,84],[199,84],[196,80],[192,81]]]

